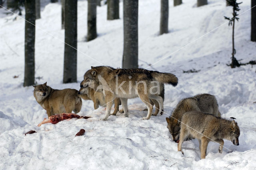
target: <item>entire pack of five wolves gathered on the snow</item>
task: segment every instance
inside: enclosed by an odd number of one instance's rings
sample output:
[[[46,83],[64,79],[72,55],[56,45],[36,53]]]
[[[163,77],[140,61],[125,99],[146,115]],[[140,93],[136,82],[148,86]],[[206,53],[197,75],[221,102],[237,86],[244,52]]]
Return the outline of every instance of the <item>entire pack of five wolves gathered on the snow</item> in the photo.
[[[66,88],[56,90],[47,83],[34,86],[36,101],[46,110],[48,117],[54,114],[77,114],[82,108],[83,100],[92,100],[94,109],[106,107],[107,120],[114,103],[114,112],[124,112],[128,116],[127,100],[139,97],[146,105],[147,116],[162,115],[164,112],[164,84],[176,86],[178,78],[171,73],[150,71],[142,68],[121,69],[110,66],[91,67],[84,74],[80,90]],[[122,110],[119,106],[122,105]],[[153,112],[155,107],[155,112]],[[165,113],[167,114],[167,113]],[[178,151],[182,152],[185,140],[198,139],[201,159],[205,158],[210,141],[220,144],[218,152],[222,153],[224,140],[239,145],[240,129],[235,118],[222,118],[218,102],[211,94],[198,94],[182,99],[166,117],[167,128],[172,140],[178,143]],[[183,152],[182,152],[183,154]]]

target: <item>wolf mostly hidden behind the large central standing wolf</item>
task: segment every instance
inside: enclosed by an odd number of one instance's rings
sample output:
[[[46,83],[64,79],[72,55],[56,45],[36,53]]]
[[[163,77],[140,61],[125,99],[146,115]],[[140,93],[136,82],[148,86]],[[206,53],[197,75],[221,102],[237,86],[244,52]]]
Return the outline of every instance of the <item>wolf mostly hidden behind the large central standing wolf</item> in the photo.
[[[87,87],[87,88],[80,88],[78,91],[78,96],[81,97],[84,100],[92,100],[94,103],[94,109],[99,108],[99,106],[105,106],[106,107],[106,100],[105,96],[102,92],[102,90],[94,91],[93,88]],[[116,113],[119,111],[119,105],[121,104],[121,101],[119,98],[115,98],[114,100],[114,112],[113,115],[116,115]],[[122,112],[122,110],[120,110]]]

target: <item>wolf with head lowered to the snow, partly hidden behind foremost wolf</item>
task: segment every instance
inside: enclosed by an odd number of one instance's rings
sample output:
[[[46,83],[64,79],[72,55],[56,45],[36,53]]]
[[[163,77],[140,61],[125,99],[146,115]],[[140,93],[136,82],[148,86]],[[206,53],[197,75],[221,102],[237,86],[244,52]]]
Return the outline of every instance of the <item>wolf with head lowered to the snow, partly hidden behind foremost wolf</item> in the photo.
[[[215,96],[211,94],[198,94],[190,98],[180,100],[172,112],[170,118],[166,118],[167,128],[172,135],[172,140],[178,142],[180,135],[180,121],[184,113],[189,111],[201,111],[220,117],[218,103]]]

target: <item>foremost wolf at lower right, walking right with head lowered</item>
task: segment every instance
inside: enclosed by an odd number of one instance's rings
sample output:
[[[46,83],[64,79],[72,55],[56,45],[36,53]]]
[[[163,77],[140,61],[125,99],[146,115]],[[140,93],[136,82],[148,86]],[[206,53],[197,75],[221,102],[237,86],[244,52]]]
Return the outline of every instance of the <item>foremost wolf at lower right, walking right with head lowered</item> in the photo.
[[[192,136],[193,138],[198,139],[201,159],[204,159],[210,141],[220,144],[220,153],[222,153],[224,145],[223,139],[230,140],[234,145],[238,146],[240,129],[234,120],[227,120],[210,114],[191,111],[186,112],[182,116],[178,151],[182,152],[182,142],[187,136]]]

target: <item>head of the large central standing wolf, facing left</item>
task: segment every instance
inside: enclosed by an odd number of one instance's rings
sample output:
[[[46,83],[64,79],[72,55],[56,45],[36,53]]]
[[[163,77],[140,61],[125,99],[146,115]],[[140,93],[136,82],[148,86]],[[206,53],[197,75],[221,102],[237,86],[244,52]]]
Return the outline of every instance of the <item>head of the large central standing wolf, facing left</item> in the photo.
[[[84,74],[84,80],[80,83],[81,88],[93,88],[95,87],[95,82],[96,82],[96,76],[97,76],[97,69],[94,68],[93,66],[91,67],[92,69],[88,70]],[[79,90],[80,91],[80,90]]]

